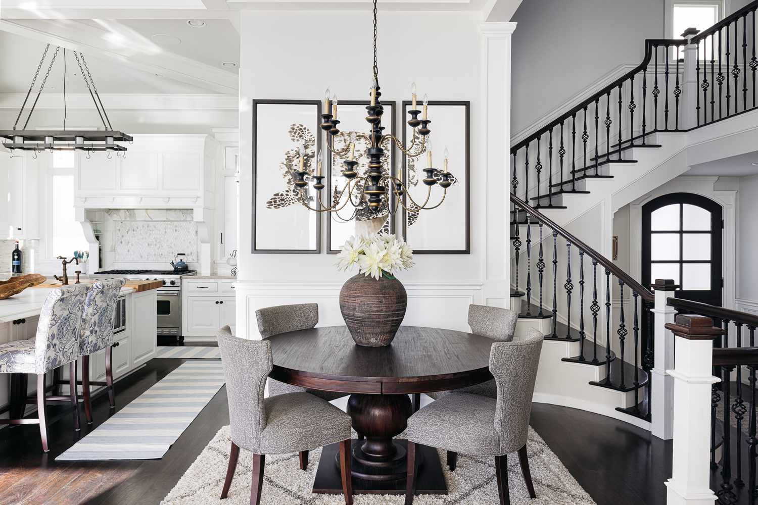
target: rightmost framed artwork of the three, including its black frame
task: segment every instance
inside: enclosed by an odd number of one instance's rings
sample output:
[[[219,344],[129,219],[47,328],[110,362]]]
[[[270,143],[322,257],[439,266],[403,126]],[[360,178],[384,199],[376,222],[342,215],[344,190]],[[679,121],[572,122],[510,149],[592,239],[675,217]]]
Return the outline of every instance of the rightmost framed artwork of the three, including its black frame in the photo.
[[[402,115],[406,117],[410,101],[402,102]],[[471,213],[469,208],[470,175],[470,102],[429,101],[428,117],[431,120],[429,139],[432,144],[433,167],[443,167],[443,151],[449,151],[448,168],[453,184],[447,189],[443,203],[431,210],[418,207],[404,197],[402,210],[402,237],[413,248],[414,254],[470,254]],[[408,123],[403,123],[402,143],[407,145],[413,135]],[[423,203],[428,186],[421,182],[426,168],[426,154],[402,157],[403,182],[406,191],[416,202]],[[442,198],[439,185],[431,188],[430,204]]]

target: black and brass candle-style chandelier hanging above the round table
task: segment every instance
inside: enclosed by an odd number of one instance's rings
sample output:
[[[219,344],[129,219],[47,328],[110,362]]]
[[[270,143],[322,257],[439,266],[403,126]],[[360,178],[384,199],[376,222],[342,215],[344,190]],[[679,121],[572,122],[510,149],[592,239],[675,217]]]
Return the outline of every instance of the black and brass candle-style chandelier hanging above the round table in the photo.
[[[384,126],[381,125],[382,115],[384,114],[384,107],[381,104],[381,87],[379,86],[379,69],[377,67],[377,0],[374,0],[374,67],[373,76],[371,78],[371,103],[366,107],[368,112],[366,122],[369,125],[368,133],[361,132],[341,132],[339,129],[340,120],[337,119],[337,96],[332,97],[330,90],[327,89],[324,96],[324,114],[321,114],[321,130],[323,135],[326,136],[326,142],[330,153],[343,157],[346,154],[348,159],[343,162],[344,168],[341,171],[342,176],[345,178],[345,184],[342,189],[335,188],[334,195],[330,196],[329,204],[324,204],[321,199],[321,191],[324,189],[324,176],[321,173],[321,153],[318,153],[315,157],[314,164],[317,166],[315,170],[312,167],[313,175],[310,175],[308,170],[305,170],[305,147],[301,145],[299,147],[299,170],[293,170],[293,183],[296,186],[296,198],[299,202],[307,207],[309,210],[315,212],[329,212],[334,213],[343,222],[352,220],[359,216],[364,219],[371,219],[384,215],[384,209],[389,214],[395,214],[399,205],[412,212],[418,212],[418,210],[430,210],[439,207],[445,200],[447,189],[454,182],[454,177],[447,170],[447,149],[445,149],[443,157],[443,170],[438,170],[432,167],[432,151],[431,141],[429,140],[429,124],[431,120],[428,119],[428,98],[424,95],[422,104],[423,110],[419,111],[417,108],[416,98],[416,85],[411,86],[412,92],[412,110],[408,111],[410,119],[408,125],[412,127],[413,134],[409,145],[404,146],[396,136],[385,134]],[[421,119],[418,116],[421,115]],[[319,133],[321,135],[321,133]],[[356,172],[356,166],[358,161],[355,160],[356,141],[361,139],[368,144],[368,171],[365,176],[359,175]],[[400,170],[393,175],[391,170],[385,169],[384,157],[390,151],[392,145],[395,145],[402,154],[409,158],[415,158],[424,154],[427,154],[427,167],[424,168],[426,176],[421,179],[424,185],[427,185],[427,194],[422,201],[415,201],[412,195],[407,191],[404,183],[401,179]],[[389,156],[387,156],[389,160]],[[316,197],[318,199],[319,207],[311,207],[308,203],[309,198],[303,195],[304,189],[307,189],[309,180],[312,182],[313,189],[316,190]],[[434,185],[440,185],[443,189],[442,197],[436,204],[430,204],[431,191]],[[390,198],[390,195],[395,195],[396,198]],[[406,202],[403,201],[403,195],[412,202],[412,208],[406,206]],[[354,207],[352,216],[345,218],[338,213],[351,204]]]

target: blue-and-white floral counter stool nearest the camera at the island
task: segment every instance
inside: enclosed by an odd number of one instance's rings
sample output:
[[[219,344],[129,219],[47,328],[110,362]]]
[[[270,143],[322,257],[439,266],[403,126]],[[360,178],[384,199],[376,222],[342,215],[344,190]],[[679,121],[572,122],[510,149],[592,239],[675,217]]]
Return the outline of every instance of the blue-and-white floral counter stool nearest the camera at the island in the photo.
[[[42,450],[49,452],[45,405],[49,401],[70,401],[74,407],[74,429],[79,428],[77,358],[82,314],[89,286],[65,285],[52,289],[42,304],[36,336],[0,344],[0,373],[34,373],[37,376],[37,419],[0,419],[0,424],[39,424]],[[68,396],[45,394],[45,373],[69,365]],[[26,391],[23,391],[26,394]],[[26,401],[26,398],[24,398]],[[23,409],[21,410],[23,417]]]

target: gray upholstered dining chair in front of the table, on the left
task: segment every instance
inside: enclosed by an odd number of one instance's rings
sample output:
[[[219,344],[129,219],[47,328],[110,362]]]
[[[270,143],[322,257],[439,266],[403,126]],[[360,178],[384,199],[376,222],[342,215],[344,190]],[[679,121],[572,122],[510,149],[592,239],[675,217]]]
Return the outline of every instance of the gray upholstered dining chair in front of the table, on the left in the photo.
[[[264,398],[266,378],[274,366],[270,342],[236,338],[229,326],[224,326],[218,331],[218,348],[227,382],[232,439],[221,500],[229,493],[240,447],[252,452],[250,505],[258,505],[265,454],[313,450],[340,442],[342,488],[346,505],[352,505],[350,416],[305,391]]]

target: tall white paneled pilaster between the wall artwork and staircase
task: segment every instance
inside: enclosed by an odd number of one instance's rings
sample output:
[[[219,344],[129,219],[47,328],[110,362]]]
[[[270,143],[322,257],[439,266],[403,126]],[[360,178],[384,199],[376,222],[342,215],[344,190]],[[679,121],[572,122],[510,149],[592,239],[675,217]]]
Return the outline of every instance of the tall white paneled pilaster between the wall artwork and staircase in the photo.
[[[484,279],[486,304],[510,304],[509,146],[511,145],[511,36],[516,23],[481,23],[481,113],[487,118],[485,145],[487,177],[487,257]],[[482,181],[483,183],[485,181]],[[491,223],[489,222],[491,220]],[[487,303],[487,301],[490,301]],[[497,302],[496,302],[497,301]]]

